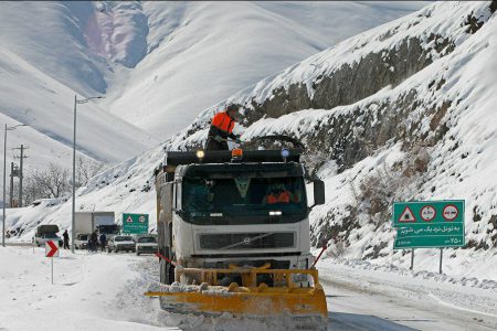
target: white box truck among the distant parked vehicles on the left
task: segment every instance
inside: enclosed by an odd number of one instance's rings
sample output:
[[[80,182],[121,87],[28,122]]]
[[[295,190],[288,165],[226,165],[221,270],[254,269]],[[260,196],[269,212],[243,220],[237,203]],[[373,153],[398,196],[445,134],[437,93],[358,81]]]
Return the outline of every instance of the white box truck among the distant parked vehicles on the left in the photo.
[[[98,237],[105,234],[107,241],[119,234],[114,212],[78,212],[75,215],[76,236],[97,231]]]

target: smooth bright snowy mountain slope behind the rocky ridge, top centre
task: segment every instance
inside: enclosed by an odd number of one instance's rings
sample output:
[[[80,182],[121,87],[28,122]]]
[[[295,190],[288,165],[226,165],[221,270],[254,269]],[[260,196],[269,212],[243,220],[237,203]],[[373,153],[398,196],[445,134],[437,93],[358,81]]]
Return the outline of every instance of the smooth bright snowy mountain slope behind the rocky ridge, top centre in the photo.
[[[144,2],[149,53],[124,88],[110,84],[109,107],[167,138],[236,90],[424,4]]]

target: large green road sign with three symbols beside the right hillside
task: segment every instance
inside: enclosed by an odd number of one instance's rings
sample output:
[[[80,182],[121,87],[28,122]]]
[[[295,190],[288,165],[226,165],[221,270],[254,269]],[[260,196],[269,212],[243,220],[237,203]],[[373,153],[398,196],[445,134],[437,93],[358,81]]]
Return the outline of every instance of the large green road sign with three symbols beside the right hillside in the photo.
[[[464,200],[393,204],[394,249],[462,247]]]

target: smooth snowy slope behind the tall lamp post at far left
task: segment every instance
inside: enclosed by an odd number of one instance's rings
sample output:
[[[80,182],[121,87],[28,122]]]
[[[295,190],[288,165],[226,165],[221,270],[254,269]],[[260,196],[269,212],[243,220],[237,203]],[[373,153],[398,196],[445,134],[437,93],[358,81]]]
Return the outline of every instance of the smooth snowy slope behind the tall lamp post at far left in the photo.
[[[4,116],[55,140],[46,143],[46,148],[61,142],[72,147],[74,90],[7,50],[0,50],[0,109]],[[141,130],[102,110],[96,103],[80,105],[77,116],[78,149],[94,159],[115,163],[156,143]],[[32,140],[34,136],[19,130],[25,145],[33,148],[40,145]],[[33,152],[42,154],[41,150]]]

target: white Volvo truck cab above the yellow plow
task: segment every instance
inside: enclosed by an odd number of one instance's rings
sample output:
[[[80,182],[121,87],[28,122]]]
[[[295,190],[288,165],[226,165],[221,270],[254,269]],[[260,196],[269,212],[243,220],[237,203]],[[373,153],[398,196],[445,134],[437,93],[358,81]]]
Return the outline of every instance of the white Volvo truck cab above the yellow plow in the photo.
[[[300,150],[168,152],[156,171],[159,252],[186,268],[306,269],[309,220]],[[314,182],[315,204],[324,183]],[[161,260],[161,282],[175,266]]]

